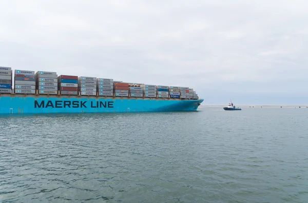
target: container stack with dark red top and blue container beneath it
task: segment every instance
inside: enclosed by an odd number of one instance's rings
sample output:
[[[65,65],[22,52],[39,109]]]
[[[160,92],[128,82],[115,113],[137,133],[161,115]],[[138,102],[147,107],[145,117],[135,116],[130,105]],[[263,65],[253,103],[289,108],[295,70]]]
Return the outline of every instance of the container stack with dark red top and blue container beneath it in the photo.
[[[58,90],[61,95],[78,95],[78,76],[59,76]]]

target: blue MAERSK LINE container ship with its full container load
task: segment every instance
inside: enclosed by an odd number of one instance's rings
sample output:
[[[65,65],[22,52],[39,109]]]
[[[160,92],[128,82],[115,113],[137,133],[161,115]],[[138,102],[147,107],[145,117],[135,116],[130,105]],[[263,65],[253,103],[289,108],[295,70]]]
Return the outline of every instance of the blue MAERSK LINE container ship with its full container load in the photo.
[[[13,86],[14,84],[14,86]],[[0,115],[196,111],[193,88],[0,66]]]

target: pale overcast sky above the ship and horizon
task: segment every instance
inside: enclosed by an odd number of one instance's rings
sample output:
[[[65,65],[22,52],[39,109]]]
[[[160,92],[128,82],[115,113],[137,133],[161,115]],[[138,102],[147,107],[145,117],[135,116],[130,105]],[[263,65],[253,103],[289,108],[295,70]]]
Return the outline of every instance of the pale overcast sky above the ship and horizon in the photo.
[[[308,104],[308,1],[0,3],[0,66]]]

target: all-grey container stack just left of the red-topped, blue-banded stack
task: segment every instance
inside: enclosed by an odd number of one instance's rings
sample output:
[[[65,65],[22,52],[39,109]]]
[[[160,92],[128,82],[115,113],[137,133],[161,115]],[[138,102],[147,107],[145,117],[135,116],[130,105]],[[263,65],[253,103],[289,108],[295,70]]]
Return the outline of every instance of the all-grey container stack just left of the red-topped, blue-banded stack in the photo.
[[[57,95],[58,83],[56,72],[37,71],[35,79],[39,95]]]

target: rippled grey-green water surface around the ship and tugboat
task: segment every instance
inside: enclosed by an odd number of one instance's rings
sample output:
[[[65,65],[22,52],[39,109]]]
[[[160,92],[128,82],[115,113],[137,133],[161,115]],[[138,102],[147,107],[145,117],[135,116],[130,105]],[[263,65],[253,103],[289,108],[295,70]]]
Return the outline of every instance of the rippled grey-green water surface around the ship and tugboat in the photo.
[[[0,117],[1,202],[308,202],[308,108]]]

